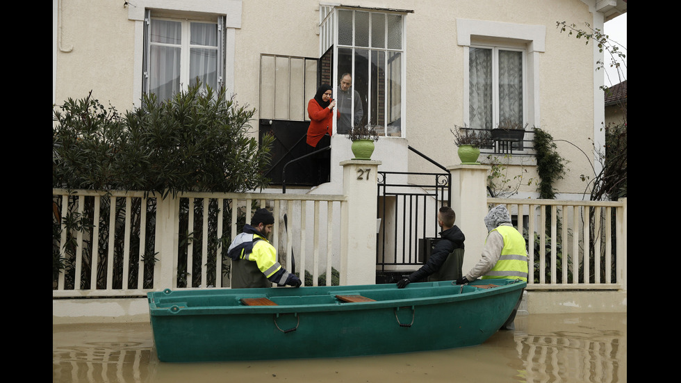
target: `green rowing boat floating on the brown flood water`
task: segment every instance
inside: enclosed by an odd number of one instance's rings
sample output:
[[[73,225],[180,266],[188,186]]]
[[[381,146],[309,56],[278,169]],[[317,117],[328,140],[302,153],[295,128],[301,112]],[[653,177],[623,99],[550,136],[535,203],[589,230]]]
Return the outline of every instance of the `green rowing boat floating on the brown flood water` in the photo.
[[[161,361],[347,357],[480,344],[507,320],[526,285],[509,282],[166,289],[148,300]],[[489,284],[495,287],[483,288]],[[247,306],[244,298],[276,305]]]

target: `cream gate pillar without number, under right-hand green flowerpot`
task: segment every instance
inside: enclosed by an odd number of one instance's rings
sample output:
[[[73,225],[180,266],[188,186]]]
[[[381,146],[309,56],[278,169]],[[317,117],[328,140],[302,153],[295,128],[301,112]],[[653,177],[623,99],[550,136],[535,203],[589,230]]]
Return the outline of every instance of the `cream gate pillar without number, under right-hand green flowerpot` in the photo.
[[[457,213],[455,225],[466,236],[463,253],[463,275],[466,275],[480,259],[487,228],[483,219],[487,215],[487,165],[453,165],[448,168],[452,174],[452,209]]]

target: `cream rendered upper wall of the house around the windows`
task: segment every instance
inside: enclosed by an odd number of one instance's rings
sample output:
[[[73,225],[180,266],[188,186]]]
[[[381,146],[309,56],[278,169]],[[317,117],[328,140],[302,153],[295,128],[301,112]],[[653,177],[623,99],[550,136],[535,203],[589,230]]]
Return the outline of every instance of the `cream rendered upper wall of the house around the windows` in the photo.
[[[595,80],[596,53],[566,33],[559,33],[556,22],[566,21],[593,26],[602,23],[594,1],[523,0],[422,1],[363,0],[357,5],[413,10],[407,20],[407,120],[408,145],[432,156],[442,165],[456,165],[454,138],[450,128],[463,124],[466,115],[465,47],[458,42],[461,33],[457,19],[508,23],[528,28],[545,28],[544,48],[531,55],[536,72],[529,74],[534,92],[528,99],[536,104],[532,119],[559,142],[559,151],[568,163],[568,174],[559,181],[561,193],[583,193],[586,184],[580,174],[590,174],[593,139],[600,132],[602,99]],[[85,97],[90,90],[103,104],[108,101],[124,111],[140,95],[140,32],[145,6],[192,9],[203,13],[227,14],[229,33],[227,72],[230,90],[240,104],[259,105],[259,60],[261,54],[317,57],[319,49],[318,7],[316,0],[220,0],[161,1],[140,0],[123,6],[112,1],[73,0],[60,3],[53,19],[62,19],[61,39],[55,46],[54,99]],[[590,8],[591,6],[591,8]],[[56,18],[55,13],[60,13]],[[595,24],[593,24],[595,23]],[[54,22],[53,22],[54,24]],[[498,24],[500,25],[500,24]],[[54,31],[54,25],[53,25]],[[491,31],[492,33],[493,31]],[[534,51],[534,48],[533,48]],[[602,77],[602,76],[601,76]],[[529,80],[528,80],[529,81]],[[256,115],[256,117],[258,117]],[[407,162],[403,144],[393,138],[378,142],[377,159],[384,168],[406,166],[422,171],[430,165]],[[381,150],[390,154],[384,157]],[[334,161],[343,158],[334,156]],[[337,162],[336,162],[337,163]],[[402,169],[407,170],[407,169]],[[528,169],[525,169],[528,170]],[[525,171],[523,170],[523,172]],[[534,168],[529,168],[532,176]],[[519,172],[516,169],[514,172]],[[340,186],[337,186],[340,187]],[[523,193],[534,193],[536,186],[522,186]]]

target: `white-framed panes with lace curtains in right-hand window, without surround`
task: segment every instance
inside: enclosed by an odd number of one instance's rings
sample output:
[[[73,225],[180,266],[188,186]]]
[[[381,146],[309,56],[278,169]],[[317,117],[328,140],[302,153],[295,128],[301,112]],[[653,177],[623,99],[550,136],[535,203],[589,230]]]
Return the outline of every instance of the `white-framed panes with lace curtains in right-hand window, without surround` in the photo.
[[[523,51],[470,47],[468,52],[469,127],[493,129],[499,122],[522,127]]]

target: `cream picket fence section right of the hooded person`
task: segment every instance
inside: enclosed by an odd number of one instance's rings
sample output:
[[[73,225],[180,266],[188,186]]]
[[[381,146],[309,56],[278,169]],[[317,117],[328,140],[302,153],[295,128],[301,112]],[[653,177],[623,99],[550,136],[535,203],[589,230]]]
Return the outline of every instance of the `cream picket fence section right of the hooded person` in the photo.
[[[535,233],[527,243],[534,270],[528,290],[626,290],[626,198],[616,202],[489,198],[488,203],[506,205],[518,217],[516,229]]]

